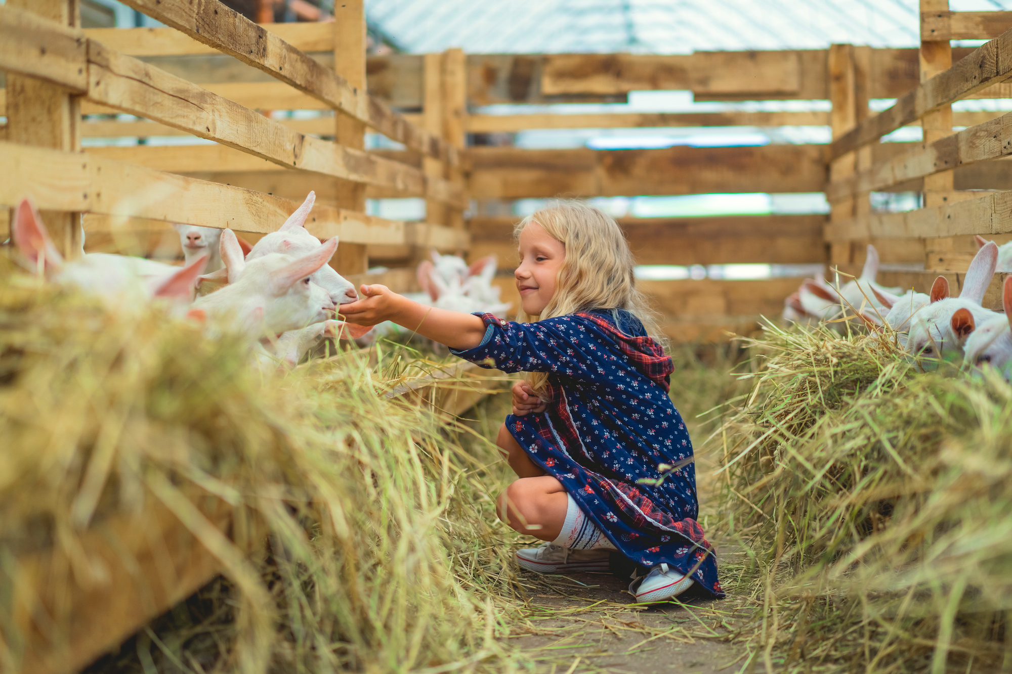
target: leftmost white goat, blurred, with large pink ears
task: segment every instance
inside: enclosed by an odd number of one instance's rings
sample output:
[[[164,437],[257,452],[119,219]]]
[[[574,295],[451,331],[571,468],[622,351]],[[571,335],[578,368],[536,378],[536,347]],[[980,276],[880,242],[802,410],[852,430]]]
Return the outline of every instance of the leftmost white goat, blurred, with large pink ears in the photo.
[[[142,257],[111,253],[88,253],[80,259],[66,262],[53,245],[46,224],[28,199],[22,199],[15,209],[11,233],[18,251],[27,260],[27,266],[41,271],[47,279],[117,303],[121,296],[137,292],[144,298],[167,298],[188,303],[193,299],[194,281],[206,262],[204,256],[185,267],[176,267]]]

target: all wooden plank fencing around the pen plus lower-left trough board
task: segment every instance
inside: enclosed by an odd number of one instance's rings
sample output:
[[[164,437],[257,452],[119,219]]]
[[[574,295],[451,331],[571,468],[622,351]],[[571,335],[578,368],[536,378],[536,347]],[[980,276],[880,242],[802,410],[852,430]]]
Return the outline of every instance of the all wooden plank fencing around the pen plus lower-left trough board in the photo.
[[[1012,165],[993,161],[1012,153],[1012,114],[951,110],[959,99],[1012,97],[1006,83],[1012,76],[1010,12],[955,13],[945,0],[921,0],[920,50],[844,45],[680,56],[450,50],[366,59],[360,0],[339,3],[334,23],[267,26],[210,0],[124,2],[169,27],[83,30],[72,0],[0,6],[0,69],[6,72],[0,104],[7,116],[0,202],[33,196],[70,256],[80,250],[80,214],[89,246],[96,247],[114,247],[123,229],[157,238],[167,223],[256,235],[275,229],[309,189],[320,196],[310,231],[341,237],[333,262],[338,271],[361,274],[370,260],[400,264],[383,280],[401,290],[412,289],[409,265],[429,247],[473,256],[494,252],[508,267],[514,219],[503,213],[520,198],[825,191],[828,218],[619,222],[643,264],[829,262],[854,271],[872,242],[887,265],[923,266],[887,271],[882,280],[921,290],[938,273],[958,287],[974,252],[973,235],[1012,238],[1012,197],[1002,191],[1012,189]],[[949,43],[975,38],[991,41],[978,49]],[[671,89],[690,90],[696,100],[829,100],[831,109],[471,113],[497,103],[614,102],[630,91]],[[897,101],[871,114],[868,101],[880,98]],[[333,115],[282,119],[266,110]],[[140,119],[82,117],[109,112]],[[880,142],[916,123],[924,130],[923,143]],[[468,146],[469,135],[475,140],[537,129],[794,125],[828,125],[833,142],[621,151]],[[953,125],[966,129],[953,133]],[[402,149],[366,150],[366,131]],[[81,152],[82,138],[176,135],[215,144]],[[902,191],[921,192],[923,206],[905,213],[872,207],[871,193]],[[394,196],[424,198],[425,221],[365,215],[366,197]],[[512,297],[509,278],[500,282]],[[795,278],[643,283],[668,333],[682,339],[747,331],[758,315],[778,315],[796,285]],[[996,297],[993,289],[991,300]],[[473,402],[465,398],[459,405]],[[438,403],[459,411],[454,401]],[[216,499],[193,503],[188,513],[145,513],[143,527],[113,521],[89,533],[83,550],[108,559],[110,573],[132,580],[116,593],[78,588],[63,606],[73,615],[83,611],[73,634],[62,636],[67,649],[53,651],[52,636],[29,631],[25,671],[79,669],[213,577],[220,565],[205,541],[180,522],[196,513],[225,530],[229,513]],[[114,553],[103,547],[113,529],[124,541]],[[142,530],[146,535],[132,537]],[[162,553],[152,547],[154,539],[171,541],[168,560],[156,559]],[[136,562],[129,569],[124,551]],[[51,569],[66,560],[40,555],[19,562],[29,581],[19,591],[34,592],[45,603]],[[171,568],[175,582],[148,583],[148,576],[158,575],[156,566],[158,573]],[[15,619],[31,622],[28,614]]]

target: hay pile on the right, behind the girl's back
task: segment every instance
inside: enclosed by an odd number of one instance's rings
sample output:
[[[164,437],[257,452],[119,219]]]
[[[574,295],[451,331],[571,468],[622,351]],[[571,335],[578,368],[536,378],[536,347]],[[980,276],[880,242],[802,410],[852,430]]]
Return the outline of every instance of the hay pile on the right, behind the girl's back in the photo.
[[[1012,388],[770,327],[715,446],[769,671],[1012,669]],[[737,587],[736,587],[737,586]]]

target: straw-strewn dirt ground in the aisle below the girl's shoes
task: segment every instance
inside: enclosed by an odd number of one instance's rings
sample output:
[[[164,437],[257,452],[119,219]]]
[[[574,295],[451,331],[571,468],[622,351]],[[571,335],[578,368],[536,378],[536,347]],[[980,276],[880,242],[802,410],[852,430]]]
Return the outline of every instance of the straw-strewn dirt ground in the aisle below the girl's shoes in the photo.
[[[751,672],[755,657],[730,640],[746,608],[734,597],[693,594],[681,603],[636,605],[611,574],[521,572],[528,615],[513,640],[538,672],[716,674]]]

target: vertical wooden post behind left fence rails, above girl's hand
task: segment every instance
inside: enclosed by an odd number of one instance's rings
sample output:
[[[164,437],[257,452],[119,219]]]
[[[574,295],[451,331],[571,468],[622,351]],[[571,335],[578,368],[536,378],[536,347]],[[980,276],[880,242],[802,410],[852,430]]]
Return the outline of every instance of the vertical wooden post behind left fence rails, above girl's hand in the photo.
[[[362,0],[341,0],[334,3],[334,70],[348,81],[356,92],[365,91],[365,11]],[[356,150],[365,149],[365,124],[335,113],[334,140]],[[337,180],[337,205],[358,213],[365,212],[365,185]],[[368,254],[363,244],[342,243],[331,259],[341,274],[365,273]]]

